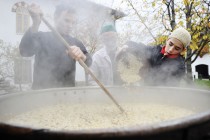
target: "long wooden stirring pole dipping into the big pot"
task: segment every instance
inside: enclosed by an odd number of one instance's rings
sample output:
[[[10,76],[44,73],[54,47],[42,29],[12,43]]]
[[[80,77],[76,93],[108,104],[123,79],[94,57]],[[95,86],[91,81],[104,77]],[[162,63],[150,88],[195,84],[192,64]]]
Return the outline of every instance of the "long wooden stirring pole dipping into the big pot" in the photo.
[[[70,45],[68,42],[49,24],[49,22],[42,17],[42,21],[52,30],[52,32],[58,37],[58,39],[68,48]],[[114,102],[114,104],[120,109],[123,113],[124,109],[118,104],[118,102],[113,98],[110,92],[104,87],[104,85],[96,78],[96,76],[92,73],[92,71],[88,68],[88,66],[84,63],[82,59],[78,60],[79,64],[90,74],[90,76],[95,80],[95,82],[103,89],[103,91],[108,95],[108,97]]]

